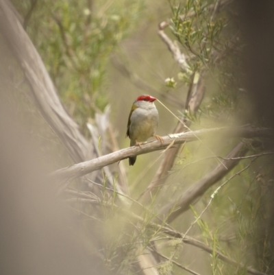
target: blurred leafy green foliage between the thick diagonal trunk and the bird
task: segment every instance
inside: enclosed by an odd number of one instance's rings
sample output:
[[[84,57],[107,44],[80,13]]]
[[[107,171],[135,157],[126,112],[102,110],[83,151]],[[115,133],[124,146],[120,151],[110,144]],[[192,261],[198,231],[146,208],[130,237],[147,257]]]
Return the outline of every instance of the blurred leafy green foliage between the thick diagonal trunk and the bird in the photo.
[[[144,3],[121,1],[13,1],[69,113],[82,130],[108,104],[110,55],[140,20]],[[86,130],[84,130],[86,132]]]

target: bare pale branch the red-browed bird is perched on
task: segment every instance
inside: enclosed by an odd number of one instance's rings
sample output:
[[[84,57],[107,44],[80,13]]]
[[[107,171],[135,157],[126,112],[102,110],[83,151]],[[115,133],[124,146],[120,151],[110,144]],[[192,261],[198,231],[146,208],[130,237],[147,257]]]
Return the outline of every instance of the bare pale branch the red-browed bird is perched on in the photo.
[[[254,128],[251,126],[244,127],[223,127],[223,128],[213,128],[206,130],[198,130],[195,132],[182,132],[179,134],[170,134],[169,136],[163,136],[163,143],[160,141],[154,140],[144,143],[142,148],[140,146],[132,146],[125,148],[105,156],[100,156],[92,160],[88,160],[84,163],[77,163],[71,167],[66,167],[60,169],[51,174],[54,178],[58,178],[62,181],[73,180],[79,176],[84,176],[92,171],[99,170],[106,165],[116,163],[119,160],[128,158],[129,156],[138,156],[140,154],[147,154],[149,152],[154,152],[157,150],[162,150],[168,147],[172,142],[174,144],[182,144],[186,141],[197,141],[197,139],[206,139],[207,137],[212,138],[212,134],[219,135],[224,134],[227,137],[232,136],[242,136],[246,138],[251,138],[254,136],[264,136],[264,137],[273,137],[272,130],[268,128]],[[234,155],[233,155],[234,156]],[[233,157],[227,156],[227,158]],[[227,160],[229,162],[229,160]],[[223,167],[223,165],[221,165]],[[223,167],[224,168],[224,167]]]

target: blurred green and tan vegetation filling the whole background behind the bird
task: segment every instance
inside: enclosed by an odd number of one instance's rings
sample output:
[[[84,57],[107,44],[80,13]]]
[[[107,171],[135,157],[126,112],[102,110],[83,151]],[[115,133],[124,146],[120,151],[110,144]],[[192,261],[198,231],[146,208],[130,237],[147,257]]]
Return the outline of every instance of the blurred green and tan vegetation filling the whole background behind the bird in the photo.
[[[247,45],[235,2],[12,1],[67,112],[98,155],[129,145],[127,116],[132,101],[143,93],[160,99],[191,130],[265,125],[253,112],[245,82]],[[23,73],[13,73],[23,91],[12,95],[18,117],[29,118],[28,134],[41,153],[55,155],[48,171],[74,164],[42,116],[36,116],[40,112],[27,99]],[[171,134],[180,122],[157,101],[156,105],[158,134]],[[176,202],[240,141],[245,145],[236,156],[243,158],[238,165],[191,201],[188,211],[170,218]],[[62,196],[86,215],[78,222],[102,265],[113,274],[273,274],[273,151],[267,139],[212,134],[210,139],[184,143],[175,155],[164,182],[151,193],[147,187],[165,159],[159,152],[138,156],[134,167],[122,160],[110,171],[102,169],[95,180],[103,185],[99,191],[92,189],[90,179],[71,183],[71,192],[96,195],[96,206],[84,199],[73,201],[78,198],[75,193]],[[131,200],[119,195],[121,182],[127,186],[121,187],[124,196]],[[144,193],[151,198],[145,199]],[[142,210],[137,201],[144,205]],[[169,204],[173,207],[164,212]],[[97,226],[103,236],[98,243]],[[191,238],[208,250],[193,246]],[[140,255],[150,257],[149,267],[138,266]]]

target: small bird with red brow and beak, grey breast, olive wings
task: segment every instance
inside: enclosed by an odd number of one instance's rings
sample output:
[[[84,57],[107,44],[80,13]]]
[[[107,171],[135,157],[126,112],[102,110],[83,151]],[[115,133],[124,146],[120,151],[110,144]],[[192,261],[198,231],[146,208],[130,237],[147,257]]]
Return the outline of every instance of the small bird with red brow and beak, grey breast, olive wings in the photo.
[[[161,136],[155,134],[158,128],[159,115],[155,107],[155,97],[151,95],[140,95],[132,104],[132,110],[129,113],[127,121],[127,133],[130,139],[130,146],[140,145],[143,141],[147,141],[151,136],[155,139],[163,141]],[[134,165],[136,156],[129,156],[129,166]]]

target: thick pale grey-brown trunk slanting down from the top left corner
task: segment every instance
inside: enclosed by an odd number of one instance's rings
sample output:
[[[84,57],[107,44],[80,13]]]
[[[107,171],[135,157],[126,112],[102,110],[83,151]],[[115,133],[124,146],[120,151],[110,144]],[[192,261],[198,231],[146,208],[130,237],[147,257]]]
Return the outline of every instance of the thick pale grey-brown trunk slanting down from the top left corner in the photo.
[[[7,1],[0,1],[0,31],[18,60],[42,116],[76,162],[97,156],[71,119],[55,91],[47,69]]]

